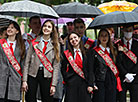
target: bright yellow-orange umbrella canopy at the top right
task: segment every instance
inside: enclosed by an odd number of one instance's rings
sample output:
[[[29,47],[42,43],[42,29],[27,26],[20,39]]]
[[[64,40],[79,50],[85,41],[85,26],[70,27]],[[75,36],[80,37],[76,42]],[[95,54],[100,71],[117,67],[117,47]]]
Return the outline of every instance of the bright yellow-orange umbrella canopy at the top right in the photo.
[[[111,1],[100,4],[98,8],[104,13],[110,13],[114,11],[127,11],[131,12],[135,9],[138,5],[132,2],[127,1]]]

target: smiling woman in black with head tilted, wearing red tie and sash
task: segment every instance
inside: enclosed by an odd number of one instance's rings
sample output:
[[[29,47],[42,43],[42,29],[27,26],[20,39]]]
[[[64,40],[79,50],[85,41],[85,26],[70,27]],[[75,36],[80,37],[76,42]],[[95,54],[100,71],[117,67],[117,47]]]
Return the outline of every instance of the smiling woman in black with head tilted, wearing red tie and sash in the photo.
[[[84,73],[85,51],[79,34],[68,35],[68,50],[64,51],[61,72],[65,81],[65,102],[91,102]]]

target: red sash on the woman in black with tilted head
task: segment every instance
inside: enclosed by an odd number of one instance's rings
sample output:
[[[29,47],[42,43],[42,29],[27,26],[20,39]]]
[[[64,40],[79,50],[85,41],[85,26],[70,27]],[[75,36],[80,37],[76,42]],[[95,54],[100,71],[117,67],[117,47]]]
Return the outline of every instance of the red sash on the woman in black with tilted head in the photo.
[[[69,50],[64,51],[66,58],[68,59],[70,65],[72,66],[73,70],[83,79],[84,73],[81,68],[78,67],[78,65],[75,63],[72,54],[69,52]]]

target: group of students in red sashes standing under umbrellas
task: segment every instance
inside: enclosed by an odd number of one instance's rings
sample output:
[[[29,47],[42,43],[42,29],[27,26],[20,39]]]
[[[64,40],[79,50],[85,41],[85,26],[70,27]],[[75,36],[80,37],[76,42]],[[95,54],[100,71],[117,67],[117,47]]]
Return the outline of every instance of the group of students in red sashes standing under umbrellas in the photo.
[[[126,102],[127,90],[130,102],[138,101],[138,42],[132,25],[124,26],[124,37],[113,44],[107,29],[94,41],[84,35],[84,21],[75,19],[61,51],[53,21],[41,26],[36,16],[29,23],[31,34],[22,36],[11,21],[0,39],[0,102],[20,102],[21,91],[26,102],[37,102],[38,86],[42,102],[55,102],[60,72],[64,102]]]

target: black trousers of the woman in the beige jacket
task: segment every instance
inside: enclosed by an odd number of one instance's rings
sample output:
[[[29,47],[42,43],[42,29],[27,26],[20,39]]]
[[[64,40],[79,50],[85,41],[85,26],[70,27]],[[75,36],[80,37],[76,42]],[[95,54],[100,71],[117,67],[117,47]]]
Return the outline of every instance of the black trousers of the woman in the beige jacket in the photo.
[[[38,84],[40,85],[40,94],[42,102],[53,102],[53,96],[50,96],[50,85],[52,78],[44,78],[43,70],[39,70],[36,78],[28,76],[28,91],[26,93],[26,102],[37,102],[36,93]]]

